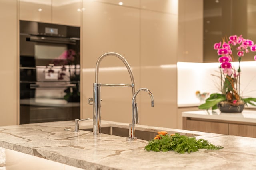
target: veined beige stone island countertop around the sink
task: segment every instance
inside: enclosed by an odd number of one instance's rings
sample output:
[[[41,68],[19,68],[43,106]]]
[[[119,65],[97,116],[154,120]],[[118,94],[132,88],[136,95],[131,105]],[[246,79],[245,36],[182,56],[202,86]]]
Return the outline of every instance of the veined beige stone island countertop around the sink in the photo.
[[[102,121],[104,126],[128,127],[127,123]],[[92,120],[81,121],[80,129],[92,127]],[[71,131],[64,131],[70,128]],[[254,169],[256,139],[213,133],[193,132],[136,125],[136,129],[195,133],[221,150],[200,149],[190,154],[148,152],[148,141],[126,141],[126,137],[92,132],[74,132],[74,121],[34,123],[0,127],[0,147],[87,170],[156,169]]]

